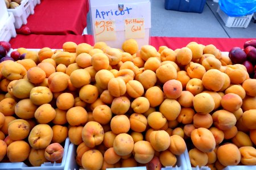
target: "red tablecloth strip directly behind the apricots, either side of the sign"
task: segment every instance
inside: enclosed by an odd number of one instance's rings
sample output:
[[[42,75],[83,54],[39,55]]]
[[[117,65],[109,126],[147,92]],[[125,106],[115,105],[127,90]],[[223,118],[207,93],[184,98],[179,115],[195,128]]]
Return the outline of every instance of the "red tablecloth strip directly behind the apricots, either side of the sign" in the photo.
[[[44,0],[45,1],[45,0]],[[243,48],[245,41],[252,39],[229,39],[229,38],[196,38],[196,37],[151,37],[150,44],[155,46],[166,45],[171,49],[182,48],[189,42],[195,41],[199,44],[208,45],[213,44],[222,52],[228,52],[232,47],[239,46]],[[60,49],[64,42],[73,41],[77,44],[86,42],[93,45],[92,35],[17,35],[10,40],[12,48],[44,48],[48,46],[53,49]]]

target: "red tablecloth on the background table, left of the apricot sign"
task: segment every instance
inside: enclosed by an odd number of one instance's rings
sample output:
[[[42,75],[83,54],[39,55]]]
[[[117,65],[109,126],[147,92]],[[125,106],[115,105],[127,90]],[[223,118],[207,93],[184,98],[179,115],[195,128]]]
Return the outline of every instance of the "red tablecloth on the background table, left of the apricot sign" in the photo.
[[[82,35],[89,11],[88,0],[43,0],[27,18],[26,26],[37,35]],[[17,33],[22,33],[16,29]]]

